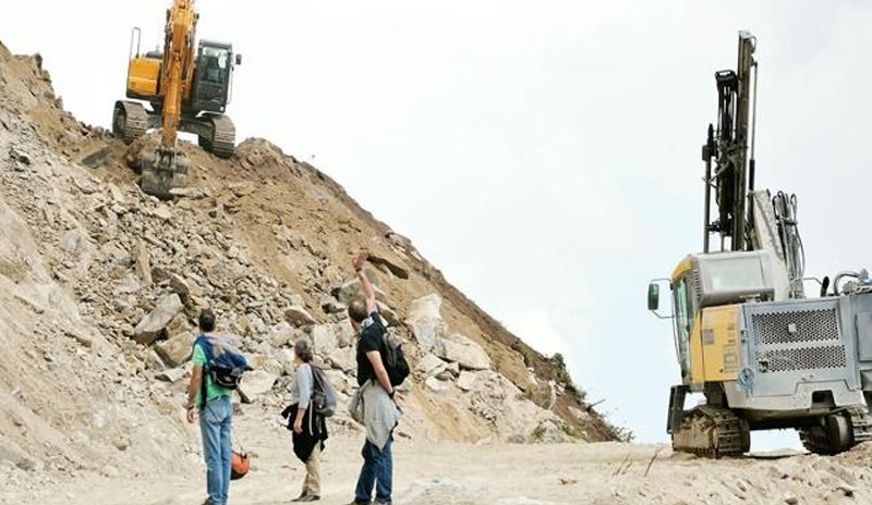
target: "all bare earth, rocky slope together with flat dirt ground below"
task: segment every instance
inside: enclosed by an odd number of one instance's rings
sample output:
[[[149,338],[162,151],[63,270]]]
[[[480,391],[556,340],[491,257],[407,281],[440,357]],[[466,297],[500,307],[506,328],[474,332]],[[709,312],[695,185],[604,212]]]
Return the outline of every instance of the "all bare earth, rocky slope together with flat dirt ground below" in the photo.
[[[256,368],[234,398],[254,465],[232,503],[299,494],[279,417],[299,337],[340,393],[324,501],[349,501],[363,433],[346,407],[344,308],[364,248],[413,368],[397,503],[872,503],[865,444],[705,460],[629,443],[559,357],[508,332],[316,168],[263,139],[230,160],[183,143],[189,185],[161,201],[129,168],[148,141],[80,123],[41,58],[0,45],[0,503],[201,503],[199,435],[182,405],[204,306]]]

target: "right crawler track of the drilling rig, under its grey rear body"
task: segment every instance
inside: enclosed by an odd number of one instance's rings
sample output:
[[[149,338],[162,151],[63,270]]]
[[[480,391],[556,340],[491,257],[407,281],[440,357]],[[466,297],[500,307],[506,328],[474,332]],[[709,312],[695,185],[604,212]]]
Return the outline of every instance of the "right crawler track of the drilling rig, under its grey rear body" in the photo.
[[[809,452],[831,456],[872,440],[872,416],[863,407],[831,414],[819,426],[800,428],[799,439]]]

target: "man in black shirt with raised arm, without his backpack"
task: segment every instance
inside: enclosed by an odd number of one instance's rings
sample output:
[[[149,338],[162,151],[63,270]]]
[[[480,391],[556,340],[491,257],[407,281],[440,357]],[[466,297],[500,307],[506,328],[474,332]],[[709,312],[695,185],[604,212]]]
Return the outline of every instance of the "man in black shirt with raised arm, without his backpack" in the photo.
[[[376,504],[391,503],[393,457],[391,443],[393,428],[400,419],[402,396],[393,389],[385,368],[387,356],[386,330],[378,315],[375,291],[363,271],[365,251],[359,254],[352,264],[363,292],[363,300],[349,304],[348,315],[358,333],[358,392],[363,402],[363,424],[366,441],[361,449],[363,468],[354,489],[351,505],[368,505],[375,488]],[[399,385],[399,384],[397,384]]]

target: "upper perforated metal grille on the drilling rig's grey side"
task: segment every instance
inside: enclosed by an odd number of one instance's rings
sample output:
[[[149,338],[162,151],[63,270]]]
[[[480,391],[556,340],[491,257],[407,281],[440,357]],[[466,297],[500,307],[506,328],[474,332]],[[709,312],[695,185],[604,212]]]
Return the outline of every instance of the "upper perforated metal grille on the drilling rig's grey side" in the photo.
[[[838,341],[835,308],[751,315],[756,345]]]

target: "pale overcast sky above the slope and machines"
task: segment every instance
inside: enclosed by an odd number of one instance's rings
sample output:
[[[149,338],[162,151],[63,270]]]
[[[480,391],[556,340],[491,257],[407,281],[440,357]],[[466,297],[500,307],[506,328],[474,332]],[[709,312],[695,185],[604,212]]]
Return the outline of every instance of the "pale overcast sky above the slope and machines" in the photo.
[[[130,28],[169,0],[15,2],[64,106],[108,127]],[[680,380],[652,278],[702,247],[714,72],[759,38],[758,187],[797,193],[808,274],[872,267],[872,2],[199,0],[243,54],[229,114],[313,162],[639,440]],[[792,432],[754,446],[797,445]]]

